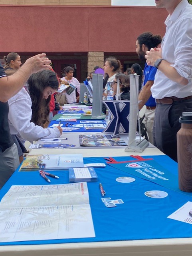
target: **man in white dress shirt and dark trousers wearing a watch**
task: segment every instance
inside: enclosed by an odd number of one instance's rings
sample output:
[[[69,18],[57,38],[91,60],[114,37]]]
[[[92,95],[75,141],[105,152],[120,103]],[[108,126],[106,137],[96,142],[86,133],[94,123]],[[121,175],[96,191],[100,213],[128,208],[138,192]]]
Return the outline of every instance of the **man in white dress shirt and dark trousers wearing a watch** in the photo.
[[[182,112],[192,111],[192,5],[187,0],[156,0],[166,8],[166,33],[161,48],[146,52],[146,62],[158,68],[152,96],[156,99],[154,145],[177,161],[176,133]]]

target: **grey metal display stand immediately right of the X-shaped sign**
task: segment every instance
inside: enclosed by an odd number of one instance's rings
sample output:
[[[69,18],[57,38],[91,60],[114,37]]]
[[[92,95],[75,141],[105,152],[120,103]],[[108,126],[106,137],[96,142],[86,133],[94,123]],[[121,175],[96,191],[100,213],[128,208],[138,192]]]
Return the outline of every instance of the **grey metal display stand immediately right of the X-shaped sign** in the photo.
[[[130,78],[129,142],[128,142],[127,148],[125,148],[125,152],[143,152],[143,150],[149,145],[149,142],[143,139],[143,137],[141,137],[140,122],[138,122],[139,139],[136,139],[137,119],[139,120],[139,108],[138,108],[139,76],[130,74],[129,78]]]

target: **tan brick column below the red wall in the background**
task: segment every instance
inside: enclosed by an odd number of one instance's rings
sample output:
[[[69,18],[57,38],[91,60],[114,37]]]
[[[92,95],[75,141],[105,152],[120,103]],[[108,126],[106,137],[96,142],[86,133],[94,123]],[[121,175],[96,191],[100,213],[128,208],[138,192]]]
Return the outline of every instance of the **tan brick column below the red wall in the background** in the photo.
[[[88,52],[87,72],[92,72],[95,66],[103,68],[104,52]]]

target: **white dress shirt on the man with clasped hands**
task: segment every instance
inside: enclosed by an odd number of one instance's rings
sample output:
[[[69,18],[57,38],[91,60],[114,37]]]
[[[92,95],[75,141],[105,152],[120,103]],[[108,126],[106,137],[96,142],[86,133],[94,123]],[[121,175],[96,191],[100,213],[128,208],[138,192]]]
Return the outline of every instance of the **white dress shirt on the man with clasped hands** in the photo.
[[[167,78],[157,70],[151,87],[153,98],[176,96],[185,98],[192,95],[192,5],[182,0],[172,15],[165,21],[166,33],[162,40],[162,58],[189,83],[181,85]]]

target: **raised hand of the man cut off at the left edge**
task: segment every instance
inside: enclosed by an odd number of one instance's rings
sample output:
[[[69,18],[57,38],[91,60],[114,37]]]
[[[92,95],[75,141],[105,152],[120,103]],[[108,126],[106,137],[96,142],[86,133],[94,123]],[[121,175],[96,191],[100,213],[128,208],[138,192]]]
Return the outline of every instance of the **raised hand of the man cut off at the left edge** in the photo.
[[[42,69],[50,69],[51,60],[46,58],[46,53],[40,53],[26,60],[23,66],[29,67],[32,74]]]

